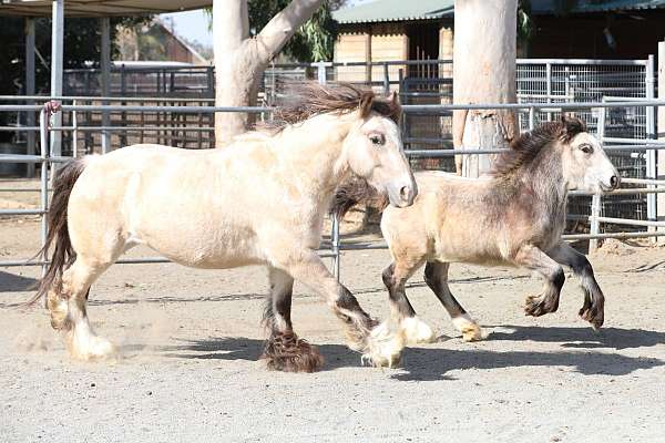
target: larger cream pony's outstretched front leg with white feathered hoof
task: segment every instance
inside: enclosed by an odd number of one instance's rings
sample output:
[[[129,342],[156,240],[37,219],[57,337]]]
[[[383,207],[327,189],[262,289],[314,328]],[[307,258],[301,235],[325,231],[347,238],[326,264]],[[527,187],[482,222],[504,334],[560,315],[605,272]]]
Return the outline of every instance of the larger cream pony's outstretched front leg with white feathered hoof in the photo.
[[[278,267],[324,297],[344,322],[349,348],[361,352],[362,361],[377,367],[399,362],[405,347],[401,333],[377,328],[377,321],[362,310],[346,287],[337,282],[316,251],[308,249],[280,261]]]

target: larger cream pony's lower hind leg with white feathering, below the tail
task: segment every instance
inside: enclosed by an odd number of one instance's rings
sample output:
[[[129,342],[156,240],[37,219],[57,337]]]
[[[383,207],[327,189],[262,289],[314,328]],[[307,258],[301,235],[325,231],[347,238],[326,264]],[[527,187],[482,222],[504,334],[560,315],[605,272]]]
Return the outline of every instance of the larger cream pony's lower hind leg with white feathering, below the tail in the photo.
[[[75,359],[95,360],[115,353],[115,349],[109,340],[93,332],[86,310],[90,286],[110,265],[99,264],[79,256],[63,272],[62,292],[49,292],[51,324],[55,329],[65,331],[66,347]]]

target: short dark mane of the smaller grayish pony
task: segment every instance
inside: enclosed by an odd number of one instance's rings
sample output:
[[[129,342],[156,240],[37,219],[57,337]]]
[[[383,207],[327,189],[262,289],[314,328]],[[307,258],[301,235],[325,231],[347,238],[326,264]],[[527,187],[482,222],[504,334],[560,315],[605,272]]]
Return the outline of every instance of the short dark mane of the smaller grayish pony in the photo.
[[[575,135],[583,132],[586,132],[586,126],[576,117],[562,116],[559,122],[543,123],[512,141],[510,151],[501,153],[494,161],[492,175],[511,176],[532,164],[541,151],[552,142],[570,143]]]

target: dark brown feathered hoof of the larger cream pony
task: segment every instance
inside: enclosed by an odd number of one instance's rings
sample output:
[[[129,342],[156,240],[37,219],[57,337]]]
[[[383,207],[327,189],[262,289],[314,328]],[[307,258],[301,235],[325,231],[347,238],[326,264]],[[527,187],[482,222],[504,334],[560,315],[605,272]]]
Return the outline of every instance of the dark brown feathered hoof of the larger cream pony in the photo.
[[[315,372],[324,365],[324,357],[307,340],[295,333],[275,333],[260,356],[272,371]]]

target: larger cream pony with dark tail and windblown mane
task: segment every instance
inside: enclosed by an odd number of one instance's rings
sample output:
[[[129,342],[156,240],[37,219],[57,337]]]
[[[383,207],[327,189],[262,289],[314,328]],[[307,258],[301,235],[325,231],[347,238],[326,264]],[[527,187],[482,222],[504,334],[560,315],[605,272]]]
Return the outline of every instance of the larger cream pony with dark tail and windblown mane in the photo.
[[[400,111],[395,95],[307,84],[276,110],[278,124],[222,148],[134,145],[69,163],[54,178],[51,261],[33,301],[47,296],[51,324],[65,332],[74,358],[99,359],[115,350],[90,327],[88,292],[133,246],[196,268],[264,265],[268,368],[314,371],[323,364],[293,330],[294,279],[323,296],[342,320],[349,347],[382,364],[386,343],[374,331],[377,322],[316,249],[335,189],[351,174],[395,206],[412,204],[417,187],[396,124]]]

